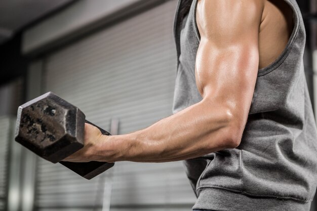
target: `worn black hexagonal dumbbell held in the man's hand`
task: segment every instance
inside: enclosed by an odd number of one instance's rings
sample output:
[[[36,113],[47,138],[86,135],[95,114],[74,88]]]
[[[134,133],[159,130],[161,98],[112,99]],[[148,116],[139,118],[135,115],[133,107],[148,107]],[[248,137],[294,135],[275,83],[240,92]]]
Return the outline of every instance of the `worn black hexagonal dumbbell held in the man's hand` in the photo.
[[[48,92],[19,106],[15,140],[38,156],[92,179],[114,163],[61,161],[84,147],[85,122],[110,135],[85,117],[80,109]]]

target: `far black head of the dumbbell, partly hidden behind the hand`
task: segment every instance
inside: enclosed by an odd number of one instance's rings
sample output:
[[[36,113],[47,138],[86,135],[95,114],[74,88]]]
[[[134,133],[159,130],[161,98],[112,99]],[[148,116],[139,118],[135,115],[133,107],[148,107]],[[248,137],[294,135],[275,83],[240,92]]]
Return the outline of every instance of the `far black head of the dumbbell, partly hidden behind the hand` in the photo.
[[[91,123],[88,120],[85,120],[86,123],[89,123],[91,125],[96,126],[102,133],[102,135],[110,136],[110,133],[103,130],[102,128],[99,128],[94,123]],[[98,161],[90,161],[90,162],[68,162],[68,161],[60,161],[62,165],[69,168],[71,171],[77,173],[78,175],[90,180],[97,175],[103,173],[104,171],[111,168],[114,163],[109,162],[98,162]]]

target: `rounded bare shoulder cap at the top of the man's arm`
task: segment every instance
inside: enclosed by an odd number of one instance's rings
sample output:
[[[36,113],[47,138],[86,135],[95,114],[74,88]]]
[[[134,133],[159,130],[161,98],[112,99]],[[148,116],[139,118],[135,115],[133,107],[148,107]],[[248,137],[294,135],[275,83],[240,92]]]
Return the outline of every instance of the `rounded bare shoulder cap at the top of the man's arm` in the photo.
[[[196,22],[201,35],[239,32],[261,23],[266,0],[198,0]],[[227,31],[228,30],[228,31]]]

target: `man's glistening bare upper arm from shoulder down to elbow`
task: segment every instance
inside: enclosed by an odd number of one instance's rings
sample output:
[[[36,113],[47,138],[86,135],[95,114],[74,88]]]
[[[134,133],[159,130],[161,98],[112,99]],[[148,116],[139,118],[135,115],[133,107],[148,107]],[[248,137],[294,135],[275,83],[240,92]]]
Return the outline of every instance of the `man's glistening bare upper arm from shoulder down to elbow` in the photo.
[[[239,111],[236,115],[244,120],[257,78],[261,20],[261,7],[249,2],[200,0],[196,11],[201,35],[195,63],[197,88],[204,100]]]

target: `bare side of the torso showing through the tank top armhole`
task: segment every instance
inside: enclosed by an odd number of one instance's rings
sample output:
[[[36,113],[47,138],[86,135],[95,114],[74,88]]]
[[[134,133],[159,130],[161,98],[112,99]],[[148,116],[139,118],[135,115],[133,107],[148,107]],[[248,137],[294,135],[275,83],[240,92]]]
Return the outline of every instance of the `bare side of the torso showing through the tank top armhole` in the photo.
[[[293,30],[293,14],[285,1],[264,0],[259,29],[259,69],[277,59],[285,49]]]

